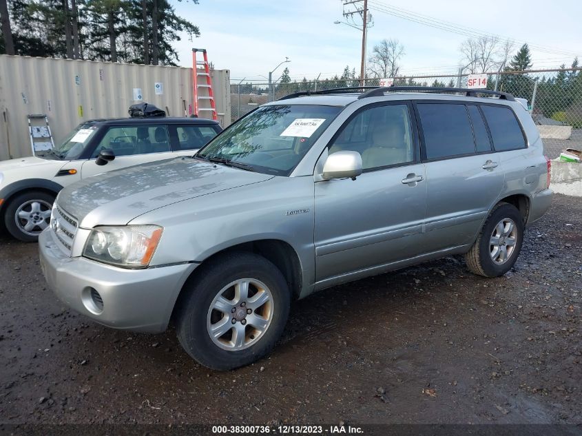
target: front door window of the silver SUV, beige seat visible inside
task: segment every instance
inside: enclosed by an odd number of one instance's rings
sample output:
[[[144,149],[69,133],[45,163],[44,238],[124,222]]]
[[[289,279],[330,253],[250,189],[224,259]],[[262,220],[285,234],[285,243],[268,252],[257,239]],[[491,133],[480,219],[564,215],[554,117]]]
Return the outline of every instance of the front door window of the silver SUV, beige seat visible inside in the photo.
[[[414,143],[407,105],[363,110],[344,125],[329,145],[329,153],[353,151],[362,155],[364,169],[414,160]]]

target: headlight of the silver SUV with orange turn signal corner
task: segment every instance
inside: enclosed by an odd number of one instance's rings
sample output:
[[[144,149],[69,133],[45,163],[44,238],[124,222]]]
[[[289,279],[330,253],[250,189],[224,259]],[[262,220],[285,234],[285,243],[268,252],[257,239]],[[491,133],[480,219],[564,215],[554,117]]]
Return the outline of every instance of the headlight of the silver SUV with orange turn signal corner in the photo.
[[[156,225],[96,227],[85,243],[83,256],[120,267],[147,267],[160,242],[162,230]]]

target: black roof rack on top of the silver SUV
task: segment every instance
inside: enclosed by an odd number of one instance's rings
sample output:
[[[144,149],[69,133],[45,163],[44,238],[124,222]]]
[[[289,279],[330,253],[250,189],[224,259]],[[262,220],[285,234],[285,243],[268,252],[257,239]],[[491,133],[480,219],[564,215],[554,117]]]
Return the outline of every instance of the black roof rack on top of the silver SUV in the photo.
[[[288,98],[295,98],[299,96],[309,96],[309,95],[322,95],[322,94],[343,94],[352,92],[362,92],[357,98],[368,98],[368,97],[379,97],[383,96],[384,92],[411,92],[411,91],[422,91],[422,92],[462,92],[468,97],[475,97],[477,94],[488,94],[499,96],[501,100],[515,101],[513,95],[508,92],[499,92],[492,90],[475,90],[461,87],[437,87],[437,86],[388,86],[388,87],[378,87],[378,86],[351,86],[351,87],[340,87],[334,88],[332,90],[322,90],[322,91],[303,91],[295,92],[287,96],[281,97],[278,100],[287,100]]]

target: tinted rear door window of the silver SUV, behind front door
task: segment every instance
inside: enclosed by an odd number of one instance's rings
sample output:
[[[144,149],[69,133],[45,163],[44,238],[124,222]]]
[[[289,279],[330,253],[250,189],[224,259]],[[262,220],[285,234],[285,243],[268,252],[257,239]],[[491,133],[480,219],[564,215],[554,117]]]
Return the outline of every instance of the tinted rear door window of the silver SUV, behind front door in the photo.
[[[417,105],[427,159],[475,153],[475,142],[465,105]]]

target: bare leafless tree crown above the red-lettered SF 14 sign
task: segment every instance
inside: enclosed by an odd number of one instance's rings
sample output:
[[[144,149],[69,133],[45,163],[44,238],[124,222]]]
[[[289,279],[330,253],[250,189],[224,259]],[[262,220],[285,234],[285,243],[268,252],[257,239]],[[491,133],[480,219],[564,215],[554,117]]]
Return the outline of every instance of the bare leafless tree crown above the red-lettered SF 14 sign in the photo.
[[[512,41],[501,41],[495,35],[469,38],[461,44],[461,64],[471,74],[498,70],[512,51]]]

